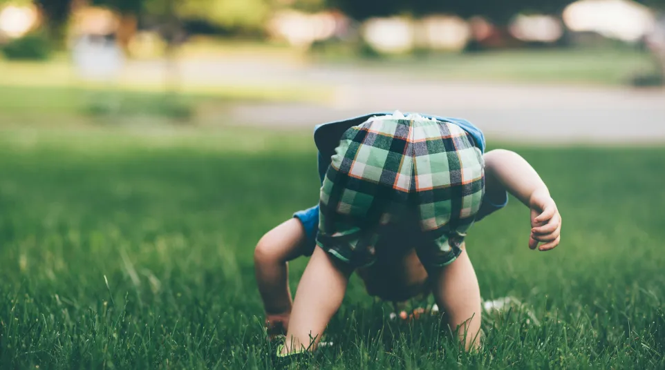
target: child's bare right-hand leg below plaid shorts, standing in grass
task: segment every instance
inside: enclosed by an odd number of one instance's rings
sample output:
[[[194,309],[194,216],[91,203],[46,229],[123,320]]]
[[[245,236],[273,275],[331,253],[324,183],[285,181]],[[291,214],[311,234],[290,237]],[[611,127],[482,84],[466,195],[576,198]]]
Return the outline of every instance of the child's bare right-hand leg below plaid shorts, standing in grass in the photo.
[[[431,269],[434,297],[467,351],[480,345],[480,287],[467,251],[448,266]]]

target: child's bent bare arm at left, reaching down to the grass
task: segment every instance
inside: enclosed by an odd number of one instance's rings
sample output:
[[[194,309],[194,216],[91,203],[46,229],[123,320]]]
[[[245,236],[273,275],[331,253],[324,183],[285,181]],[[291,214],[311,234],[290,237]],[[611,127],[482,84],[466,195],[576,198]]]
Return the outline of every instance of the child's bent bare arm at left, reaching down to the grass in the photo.
[[[304,240],[301,222],[292,218],[263,235],[254,250],[256,282],[269,329],[276,323],[288,328],[292,301],[287,262],[303,254]]]

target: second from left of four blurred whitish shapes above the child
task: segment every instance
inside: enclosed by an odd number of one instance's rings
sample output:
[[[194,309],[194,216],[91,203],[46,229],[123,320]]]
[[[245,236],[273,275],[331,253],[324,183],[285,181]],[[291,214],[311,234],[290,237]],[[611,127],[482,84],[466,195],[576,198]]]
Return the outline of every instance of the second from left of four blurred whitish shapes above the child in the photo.
[[[414,46],[415,25],[404,17],[372,18],[364,23],[362,37],[379,52],[407,52]]]

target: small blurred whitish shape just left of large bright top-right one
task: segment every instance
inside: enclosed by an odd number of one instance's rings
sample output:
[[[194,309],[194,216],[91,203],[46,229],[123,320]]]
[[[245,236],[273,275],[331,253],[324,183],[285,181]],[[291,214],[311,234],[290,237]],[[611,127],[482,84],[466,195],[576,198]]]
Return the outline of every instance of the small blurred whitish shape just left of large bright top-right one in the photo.
[[[519,14],[509,27],[510,34],[521,41],[554,42],[563,36],[563,25],[551,15]]]

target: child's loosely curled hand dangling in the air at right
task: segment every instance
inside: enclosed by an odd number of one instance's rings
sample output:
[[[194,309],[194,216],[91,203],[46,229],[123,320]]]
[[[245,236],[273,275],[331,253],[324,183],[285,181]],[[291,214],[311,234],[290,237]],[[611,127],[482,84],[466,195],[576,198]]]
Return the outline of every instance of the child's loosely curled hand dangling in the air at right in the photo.
[[[549,251],[559,245],[561,241],[561,215],[556,208],[554,199],[546,191],[536,191],[532,194],[529,207],[531,208],[531,237],[529,248],[539,251]]]

